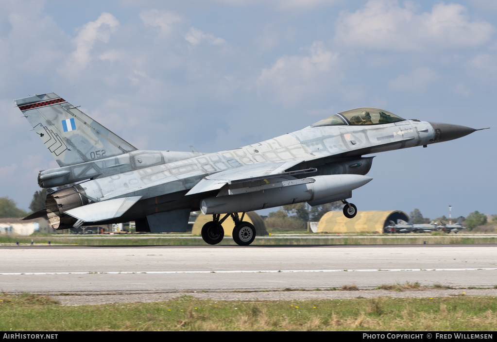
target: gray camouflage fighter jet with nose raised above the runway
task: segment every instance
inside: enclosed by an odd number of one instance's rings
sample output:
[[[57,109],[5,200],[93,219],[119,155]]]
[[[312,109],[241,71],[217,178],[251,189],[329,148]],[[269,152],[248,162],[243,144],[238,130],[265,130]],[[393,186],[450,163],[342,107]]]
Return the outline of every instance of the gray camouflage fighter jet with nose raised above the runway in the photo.
[[[80,182],[48,194],[54,229],[135,221],[141,232],[184,232],[190,211],[213,215],[202,238],[215,245],[222,223],[235,222],[233,239],[255,238],[248,211],[347,199],[372,178],[371,153],[457,139],[476,129],[405,120],[377,108],[347,110],[300,131],[238,149],[203,154],[137,150],[55,93],[14,100],[60,168],[40,171],[43,188]],[[238,213],[243,213],[241,217]]]

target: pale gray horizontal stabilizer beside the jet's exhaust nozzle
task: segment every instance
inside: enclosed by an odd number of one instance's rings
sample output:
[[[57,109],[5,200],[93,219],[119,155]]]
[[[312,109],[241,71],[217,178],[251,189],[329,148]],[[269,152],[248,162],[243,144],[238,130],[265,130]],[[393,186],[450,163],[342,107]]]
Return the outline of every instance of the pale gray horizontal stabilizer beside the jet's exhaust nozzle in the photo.
[[[65,212],[83,222],[98,222],[120,217],[138,202],[142,196],[109,199],[83,205]]]

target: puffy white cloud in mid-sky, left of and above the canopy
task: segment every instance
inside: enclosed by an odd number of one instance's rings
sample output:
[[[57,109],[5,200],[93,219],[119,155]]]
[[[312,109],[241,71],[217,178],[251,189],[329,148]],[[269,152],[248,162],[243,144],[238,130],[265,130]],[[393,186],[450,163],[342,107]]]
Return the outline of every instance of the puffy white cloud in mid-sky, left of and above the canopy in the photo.
[[[263,69],[257,80],[259,89],[286,106],[328,91],[329,82],[338,78],[338,54],[326,50],[323,42],[314,42],[306,50],[306,56],[283,56]]]

